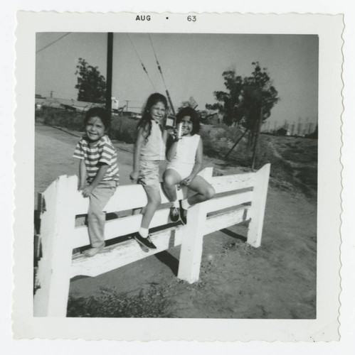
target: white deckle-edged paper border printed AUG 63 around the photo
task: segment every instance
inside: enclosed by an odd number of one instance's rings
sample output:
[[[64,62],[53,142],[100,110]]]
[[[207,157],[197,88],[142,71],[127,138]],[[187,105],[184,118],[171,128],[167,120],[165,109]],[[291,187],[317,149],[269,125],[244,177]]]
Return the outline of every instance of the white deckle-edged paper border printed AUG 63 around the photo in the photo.
[[[117,340],[339,339],[342,15],[18,12],[16,29],[16,211],[14,337]],[[169,22],[166,23],[166,16]],[[282,33],[319,35],[319,155],[316,320],[88,319],[33,317],[34,98],[37,32]],[[26,177],[26,178],[25,178]]]

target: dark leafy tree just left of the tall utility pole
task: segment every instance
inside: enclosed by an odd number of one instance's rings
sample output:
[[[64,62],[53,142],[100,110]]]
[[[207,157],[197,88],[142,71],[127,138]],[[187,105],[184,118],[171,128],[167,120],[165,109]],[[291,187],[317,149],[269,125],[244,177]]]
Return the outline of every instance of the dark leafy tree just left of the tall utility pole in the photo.
[[[75,89],[78,89],[79,101],[105,103],[106,80],[97,67],[92,67],[85,59],[79,58],[75,75],[78,76]]]

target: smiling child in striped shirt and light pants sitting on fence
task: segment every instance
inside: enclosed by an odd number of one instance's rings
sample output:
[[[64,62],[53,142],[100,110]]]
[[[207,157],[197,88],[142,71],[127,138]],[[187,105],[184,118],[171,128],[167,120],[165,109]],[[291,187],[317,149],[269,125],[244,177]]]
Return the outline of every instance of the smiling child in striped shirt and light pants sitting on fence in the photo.
[[[88,233],[91,248],[85,251],[85,256],[94,256],[105,247],[103,209],[118,185],[117,154],[106,135],[109,123],[110,116],[105,109],[90,109],[85,116],[85,135],[73,155],[80,159],[78,190],[90,200]]]

